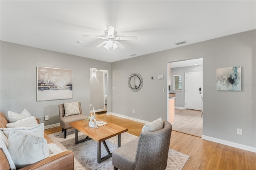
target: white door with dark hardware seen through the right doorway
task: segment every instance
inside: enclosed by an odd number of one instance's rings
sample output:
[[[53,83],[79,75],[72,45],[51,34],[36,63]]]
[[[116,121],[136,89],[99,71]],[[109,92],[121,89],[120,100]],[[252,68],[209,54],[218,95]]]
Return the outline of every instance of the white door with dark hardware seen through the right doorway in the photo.
[[[185,108],[202,111],[202,72],[185,73]]]

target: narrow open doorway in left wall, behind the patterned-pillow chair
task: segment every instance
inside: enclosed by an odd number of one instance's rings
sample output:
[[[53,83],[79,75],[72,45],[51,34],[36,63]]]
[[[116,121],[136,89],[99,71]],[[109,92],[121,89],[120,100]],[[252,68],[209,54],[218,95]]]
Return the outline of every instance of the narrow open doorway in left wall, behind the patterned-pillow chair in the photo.
[[[90,112],[106,112],[108,103],[108,71],[90,68]]]

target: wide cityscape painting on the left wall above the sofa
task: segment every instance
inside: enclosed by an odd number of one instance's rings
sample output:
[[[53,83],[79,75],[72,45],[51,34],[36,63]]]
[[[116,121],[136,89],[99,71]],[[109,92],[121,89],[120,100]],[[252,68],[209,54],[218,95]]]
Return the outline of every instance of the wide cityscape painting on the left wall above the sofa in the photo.
[[[73,71],[37,67],[37,101],[72,99]]]

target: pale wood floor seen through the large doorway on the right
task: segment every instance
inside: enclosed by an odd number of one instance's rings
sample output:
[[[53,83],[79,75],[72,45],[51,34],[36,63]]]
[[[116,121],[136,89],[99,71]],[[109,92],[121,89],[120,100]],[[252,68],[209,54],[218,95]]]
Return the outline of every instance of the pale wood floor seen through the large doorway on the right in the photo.
[[[203,117],[201,115],[202,111],[175,108],[172,130],[201,137],[203,133]]]

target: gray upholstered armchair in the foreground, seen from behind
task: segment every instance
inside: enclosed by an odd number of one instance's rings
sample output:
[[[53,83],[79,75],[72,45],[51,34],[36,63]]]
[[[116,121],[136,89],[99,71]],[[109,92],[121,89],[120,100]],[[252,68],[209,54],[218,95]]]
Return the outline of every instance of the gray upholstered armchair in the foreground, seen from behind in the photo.
[[[164,128],[141,132],[140,137],[117,148],[112,153],[114,170],[165,170],[172,125],[164,121]]]

